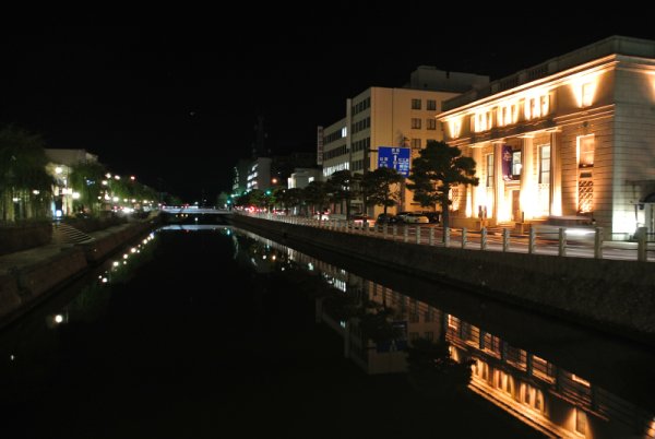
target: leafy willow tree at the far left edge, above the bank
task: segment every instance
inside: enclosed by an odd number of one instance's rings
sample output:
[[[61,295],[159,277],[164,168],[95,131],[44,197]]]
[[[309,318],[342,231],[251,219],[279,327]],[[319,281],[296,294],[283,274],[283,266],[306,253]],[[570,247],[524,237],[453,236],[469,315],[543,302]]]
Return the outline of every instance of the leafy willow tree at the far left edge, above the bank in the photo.
[[[53,181],[44,147],[38,134],[13,126],[0,129],[0,220],[46,216]]]

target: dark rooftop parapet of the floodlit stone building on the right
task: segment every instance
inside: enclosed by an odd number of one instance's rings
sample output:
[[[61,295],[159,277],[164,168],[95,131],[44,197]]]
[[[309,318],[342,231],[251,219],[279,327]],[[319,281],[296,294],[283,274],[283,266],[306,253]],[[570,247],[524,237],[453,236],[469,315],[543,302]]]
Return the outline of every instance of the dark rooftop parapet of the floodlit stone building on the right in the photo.
[[[569,54],[551,58],[538,66],[521,70],[510,76],[492,81],[484,87],[469,90],[468,92],[448,99],[443,103],[443,110],[471,104],[475,100],[491,96],[505,90],[536,81],[551,74],[584,64],[595,59],[610,55],[624,55],[642,58],[655,58],[655,41],[650,39],[632,38],[614,35],[599,41],[584,46]]]

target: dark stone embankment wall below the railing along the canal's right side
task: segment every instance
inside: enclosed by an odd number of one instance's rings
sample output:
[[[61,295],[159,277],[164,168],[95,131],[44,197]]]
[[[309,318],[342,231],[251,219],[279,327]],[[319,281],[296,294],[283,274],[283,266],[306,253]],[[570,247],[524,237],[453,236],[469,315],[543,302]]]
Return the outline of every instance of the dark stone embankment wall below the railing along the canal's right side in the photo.
[[[446,249],[242,215],[231,222],[655,345],[652,262]]]

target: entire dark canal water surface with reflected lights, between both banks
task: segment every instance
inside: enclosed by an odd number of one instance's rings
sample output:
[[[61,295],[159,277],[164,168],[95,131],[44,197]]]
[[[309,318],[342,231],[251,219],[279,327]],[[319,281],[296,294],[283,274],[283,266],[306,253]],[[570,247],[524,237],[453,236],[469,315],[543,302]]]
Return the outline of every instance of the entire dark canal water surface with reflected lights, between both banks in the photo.
[[[408,372],[419,343],[454,361]],[[12,438],[655,436],[647,348],[226,226],[143,237],[0,353]]]

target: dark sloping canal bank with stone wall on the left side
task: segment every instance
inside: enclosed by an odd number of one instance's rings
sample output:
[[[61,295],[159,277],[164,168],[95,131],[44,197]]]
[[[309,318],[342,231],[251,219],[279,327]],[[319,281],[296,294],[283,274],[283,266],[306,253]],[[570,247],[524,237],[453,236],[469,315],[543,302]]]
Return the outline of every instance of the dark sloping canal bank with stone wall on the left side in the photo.
[[[11,323],[67,282],[151,230],[157,218],[88,233],[84,244],[49,244],[0,257],[0,328]]]

